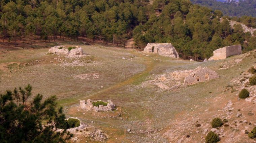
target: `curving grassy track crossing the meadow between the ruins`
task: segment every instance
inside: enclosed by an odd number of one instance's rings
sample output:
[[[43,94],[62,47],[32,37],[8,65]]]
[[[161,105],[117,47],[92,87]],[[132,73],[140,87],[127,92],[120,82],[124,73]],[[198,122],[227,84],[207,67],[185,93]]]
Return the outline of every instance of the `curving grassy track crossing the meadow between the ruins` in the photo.
[[[117,83],[115,85],[109,86],[109,87],[104,88],[100,91],[94,92],[93,94],[85,95],[82,98],[78,98],[78,99],[77,98],[72,98],[71,100],[59,101],[59,105],[67,106],[67,105],[75,104],[75,103],[78,103],[79,100],[83,100],[83,99],[86,99],[86,98],[91,97],[91,96],[97,96],[97,95],[101,95],[101,94],[109,92],[109,91],[113,91],[113,90],[118,89],[120,87],[123,87],[125,85],[136,82],[136,81],[140,80],[141,78],[147,76],[148,73],[150,71],[152,71],[152,69],[155,67],[155,61],[152,58],[146,57],[146,56],[144,56],[140,53],[137,53],[137,52],[134,52],[134,51],[132,51],[131,53],[147,61],[147,62],[145,62],[146,69],[144,71],[135,74],[134,76],[128,78],[125,81],[122,81],[122,82]]]

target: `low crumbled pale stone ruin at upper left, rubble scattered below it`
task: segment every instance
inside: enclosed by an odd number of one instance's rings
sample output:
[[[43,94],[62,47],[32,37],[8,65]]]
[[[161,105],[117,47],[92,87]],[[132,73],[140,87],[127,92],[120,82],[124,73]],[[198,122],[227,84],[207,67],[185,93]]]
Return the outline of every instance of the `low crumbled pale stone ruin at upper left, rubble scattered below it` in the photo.
[[[59,49],[61,48],[62,49]],[[81,47],[76,46],[75,49],[68,51],[65,46],[55,46],[49,49],[48,53],[53,53],[56,55],[65,55],[69,58],[82,57],[84,55],[84,51]]]

